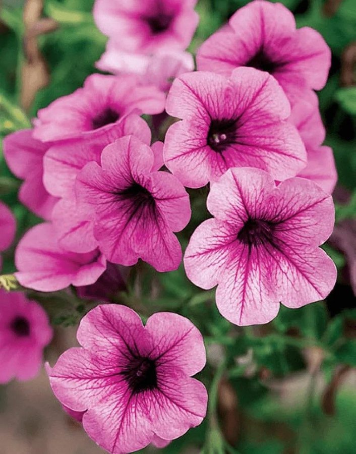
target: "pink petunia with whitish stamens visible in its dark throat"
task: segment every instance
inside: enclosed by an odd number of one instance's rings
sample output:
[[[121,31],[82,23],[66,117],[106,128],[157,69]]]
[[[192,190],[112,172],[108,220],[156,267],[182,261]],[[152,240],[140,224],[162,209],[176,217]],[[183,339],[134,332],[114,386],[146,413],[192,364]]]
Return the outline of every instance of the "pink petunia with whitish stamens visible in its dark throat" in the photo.
[[[190,188],[215,181],[229,167],[254,166],[284,180],[306,165],[301,137],[287,121],[289,102],[267,73],[185,74],[174,80],[166,110],[183,121],[167,131],[165,164]]]

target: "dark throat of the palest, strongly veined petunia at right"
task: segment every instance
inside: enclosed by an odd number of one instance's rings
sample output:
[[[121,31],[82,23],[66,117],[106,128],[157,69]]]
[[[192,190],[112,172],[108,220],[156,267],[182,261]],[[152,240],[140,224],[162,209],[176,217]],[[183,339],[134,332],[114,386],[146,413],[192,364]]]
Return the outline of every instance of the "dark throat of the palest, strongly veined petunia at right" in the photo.
[[[261,219],[249,218],[238,234],[238,240],[249,246],[260,246],[273,243],[274,224]]]

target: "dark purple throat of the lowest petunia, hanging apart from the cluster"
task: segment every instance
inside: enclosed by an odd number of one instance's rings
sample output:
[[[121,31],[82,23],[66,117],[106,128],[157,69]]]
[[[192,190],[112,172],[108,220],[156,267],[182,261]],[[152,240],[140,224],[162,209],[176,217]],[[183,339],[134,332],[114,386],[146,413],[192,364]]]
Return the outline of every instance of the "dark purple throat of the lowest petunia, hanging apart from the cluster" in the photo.
[[[133,358],[121,374],[135,394],[157,387],[156,363],[149,358]]]

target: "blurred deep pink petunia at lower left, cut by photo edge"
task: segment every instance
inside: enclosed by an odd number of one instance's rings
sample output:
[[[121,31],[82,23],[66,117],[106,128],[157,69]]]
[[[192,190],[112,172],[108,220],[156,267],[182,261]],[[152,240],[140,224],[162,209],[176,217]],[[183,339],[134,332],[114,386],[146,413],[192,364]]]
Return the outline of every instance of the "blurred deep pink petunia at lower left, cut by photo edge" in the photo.
[[[22,293],[0,290],[0,383],[34,378],[52,335],[47,314],[39,304],[28,301]]]

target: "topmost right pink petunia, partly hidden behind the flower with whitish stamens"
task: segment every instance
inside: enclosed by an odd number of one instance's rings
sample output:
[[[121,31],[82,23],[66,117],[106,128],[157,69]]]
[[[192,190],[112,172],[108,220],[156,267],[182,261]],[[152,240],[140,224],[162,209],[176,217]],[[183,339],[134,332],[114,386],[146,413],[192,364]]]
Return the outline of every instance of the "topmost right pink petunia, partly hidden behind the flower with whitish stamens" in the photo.
[[[238,10],[229,29],[208,38],[197,54],[198,69],[230,74],[240,66],[273,75],[294,104],[324,87],[331,52],[310,27],[295,29],[292,13],[280,3],[256,0]]]

